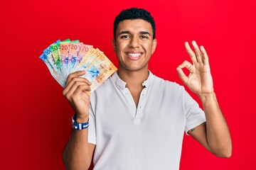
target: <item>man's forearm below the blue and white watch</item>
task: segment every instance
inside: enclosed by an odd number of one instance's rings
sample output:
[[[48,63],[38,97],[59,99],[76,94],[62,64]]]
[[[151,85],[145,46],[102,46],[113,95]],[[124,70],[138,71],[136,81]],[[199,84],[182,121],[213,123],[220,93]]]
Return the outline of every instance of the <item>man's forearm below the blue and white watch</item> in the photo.
[[[87,142],[88,129],[73,130],[63,152],[66,169],[88,169],[92,153]]]

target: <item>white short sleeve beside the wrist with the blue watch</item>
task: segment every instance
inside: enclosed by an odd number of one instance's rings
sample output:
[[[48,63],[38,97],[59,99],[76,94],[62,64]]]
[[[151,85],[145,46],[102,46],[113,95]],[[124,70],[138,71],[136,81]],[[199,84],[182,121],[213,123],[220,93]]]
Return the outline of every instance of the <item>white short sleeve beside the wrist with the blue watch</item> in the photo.
[[[92,110],[91,103],[90,103],[90,114],[89,114],[88,143],[96,145],[95,113]]]

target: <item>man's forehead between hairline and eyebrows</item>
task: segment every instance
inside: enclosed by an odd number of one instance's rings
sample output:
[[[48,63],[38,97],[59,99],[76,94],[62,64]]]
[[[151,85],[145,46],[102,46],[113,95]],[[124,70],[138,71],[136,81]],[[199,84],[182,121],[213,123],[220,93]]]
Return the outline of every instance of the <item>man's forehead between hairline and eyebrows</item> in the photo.
[[[124,30],[131,33],[141,31],[153,33],[151,24],[147,21],[144,21],[143,19],[129,19],[119,22],[116,33],[118,34]]]

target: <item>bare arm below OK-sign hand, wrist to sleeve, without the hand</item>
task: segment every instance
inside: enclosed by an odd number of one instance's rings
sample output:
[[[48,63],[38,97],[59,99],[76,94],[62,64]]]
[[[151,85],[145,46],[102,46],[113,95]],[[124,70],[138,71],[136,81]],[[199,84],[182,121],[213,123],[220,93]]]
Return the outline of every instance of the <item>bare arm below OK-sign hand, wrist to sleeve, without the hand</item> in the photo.
[[[206,123],[188,131],[194,139],[218,157],[231,157],[232,144],[228,125],[220,111],[215,94],[201,96]]]

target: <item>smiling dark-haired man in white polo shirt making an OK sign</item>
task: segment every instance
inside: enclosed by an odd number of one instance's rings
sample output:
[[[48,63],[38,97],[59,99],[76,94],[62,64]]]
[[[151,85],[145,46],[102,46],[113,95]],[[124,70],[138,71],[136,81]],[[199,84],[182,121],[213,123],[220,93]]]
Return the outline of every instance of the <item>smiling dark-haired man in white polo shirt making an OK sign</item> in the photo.
[[[93,152],[95,169],[178,169],[184,130],[213,154],[230,157],[230,133],[213,91],[203,46],[193,41],[194,53],[186,42],[193,64],[184,61],[177,71],[199,96],[204,111],[183,86],[149,72],[156,39],[148,11],[129,8],[119,13],[112,43],[118,72],[91,96],[85,94],[90,81],[80,78],[85,72],[67,79],[63,95],[75,110],[74,122],[88,125],[90,120],[89,130],[73,130],[70,136],[63,153],[67,169],[88,169]]]

